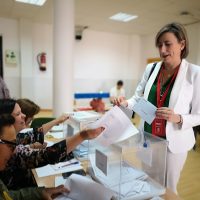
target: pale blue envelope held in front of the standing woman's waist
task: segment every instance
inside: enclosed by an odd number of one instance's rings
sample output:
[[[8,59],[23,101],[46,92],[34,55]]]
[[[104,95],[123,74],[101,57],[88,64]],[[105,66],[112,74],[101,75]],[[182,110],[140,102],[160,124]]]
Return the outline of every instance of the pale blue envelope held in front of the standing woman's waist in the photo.
[[[156,117],[157,107],[144,98],[140,98],[138,103],[133,106],[135,111],[144,121],[151,124]]]

